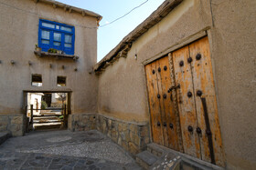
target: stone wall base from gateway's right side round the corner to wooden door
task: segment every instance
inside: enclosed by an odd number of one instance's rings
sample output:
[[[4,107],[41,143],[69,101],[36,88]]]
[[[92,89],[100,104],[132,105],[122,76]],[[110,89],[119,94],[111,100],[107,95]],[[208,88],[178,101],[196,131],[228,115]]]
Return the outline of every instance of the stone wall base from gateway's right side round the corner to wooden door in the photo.
[[[69,130],[86,131],[97,129],[108,135],[132,155],[143,151],[150,142],[149,125],[125,122],[104,115],[69,115]]]

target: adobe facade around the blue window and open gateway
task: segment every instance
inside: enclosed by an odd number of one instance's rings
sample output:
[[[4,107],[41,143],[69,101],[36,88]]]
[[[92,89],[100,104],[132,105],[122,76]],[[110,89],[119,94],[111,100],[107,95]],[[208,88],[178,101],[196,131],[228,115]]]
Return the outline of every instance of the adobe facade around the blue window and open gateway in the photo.
[[[97,62],[96,18],[32,0],[0,0],[0,15],[0,129],[10,130],[15,135],[23,134],[23,127],[16,133],[10,125],[3,123],[5,116],[23,116],[23,90],[71,91],[72,115],[95,113],[98,80],[89,72]],[[34,54],[39,18],[75,26],[78,61],[40,58]],[[15,61],[14,65],[11,60]],[[32,65],[28,65],[28,61]],[[31,86],[32,74],[42,75],[43,86]],[[57,86],[58,75],[67,77],[65,87]]]

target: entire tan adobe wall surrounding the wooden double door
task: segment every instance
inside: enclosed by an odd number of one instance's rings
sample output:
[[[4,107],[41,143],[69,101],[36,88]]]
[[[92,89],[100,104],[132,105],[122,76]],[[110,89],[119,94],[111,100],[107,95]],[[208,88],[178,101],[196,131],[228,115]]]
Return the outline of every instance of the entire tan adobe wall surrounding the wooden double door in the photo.
[[[211,5],[205,0],[183,1],[134,41],[126,58],[120,58],[101,73],[99,113],[126,122],[149,123],[144,62],[166,55],[187,40],[206,33],[226,167],[253,169],[256,166],[255,7],[256,2],[250,0],[212,0]]]

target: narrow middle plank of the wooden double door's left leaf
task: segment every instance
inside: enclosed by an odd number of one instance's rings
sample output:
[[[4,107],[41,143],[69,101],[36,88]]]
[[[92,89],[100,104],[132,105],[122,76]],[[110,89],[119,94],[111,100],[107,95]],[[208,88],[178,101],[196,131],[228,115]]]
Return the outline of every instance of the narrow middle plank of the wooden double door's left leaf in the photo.
[[[163,130],[164,145],[168,147],[169,141],[168,141],[167,122],[166,122],[168,117],[166,117],[167,113],[165,113],[166,105],[164,105],[164,103],[165,103],[164,95],[166,95],[166,93],[165,93],[165,85],[163,84],[165,82],[162,82],[162,79],[164,79],[165,77],[161,76],[162,73],[164,72],[164,68],[161,65],[161,63],[162,63],[161,61],[162,61],[162,59],[159,59],[159,60],[155,61],[155,64],[156,64],[158,95],[160,95],[158,100],[160,103],[160,115],[161,115],[161,120],[162,120],[161,127]]]

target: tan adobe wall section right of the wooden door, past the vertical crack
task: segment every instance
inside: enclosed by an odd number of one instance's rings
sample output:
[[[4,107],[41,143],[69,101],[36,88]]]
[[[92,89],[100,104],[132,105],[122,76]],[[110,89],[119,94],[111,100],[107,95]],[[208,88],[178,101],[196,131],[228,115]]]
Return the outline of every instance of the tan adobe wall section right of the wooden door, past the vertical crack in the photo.
[[[229,169],[256,167],[256,1],[212,1],[212,59]]]

